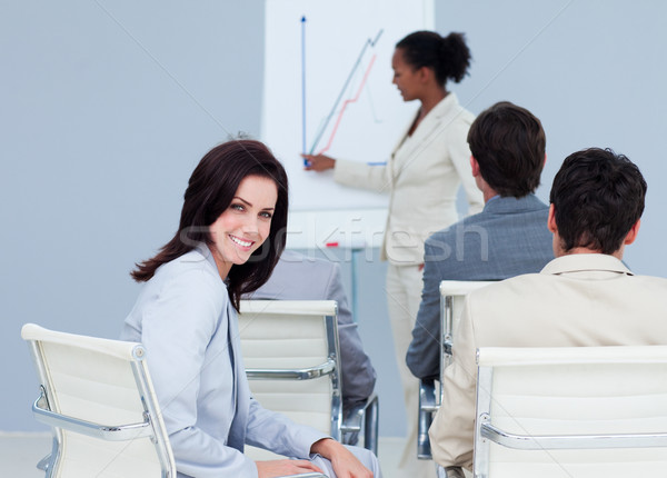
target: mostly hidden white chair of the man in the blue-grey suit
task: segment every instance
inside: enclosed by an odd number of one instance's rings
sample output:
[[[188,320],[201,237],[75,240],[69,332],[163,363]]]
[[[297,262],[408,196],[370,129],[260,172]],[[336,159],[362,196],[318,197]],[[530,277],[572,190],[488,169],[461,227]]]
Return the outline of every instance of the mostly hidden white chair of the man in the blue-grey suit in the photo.
[[[442,402],[442,371],[451,362],[451,345],[461,317],[466,296],[492,283],[482,280],[444,280],[440,282],[440,380],[419,381],[419,421],[417,431],[417,458],[431,459],[428,429]],[[436,390],[437,388],[437,390]]]

